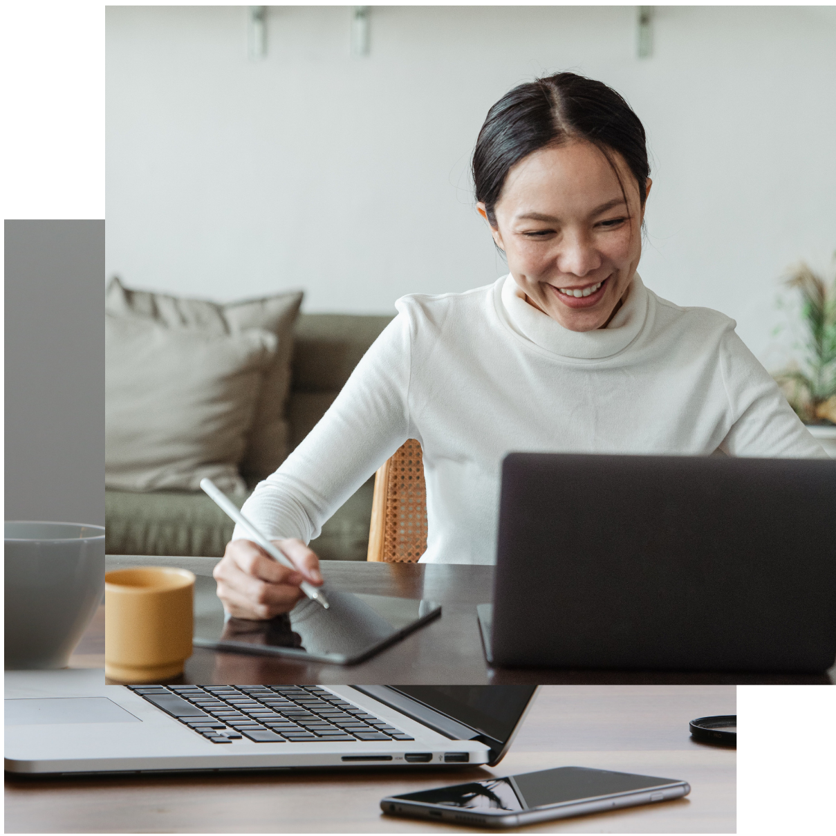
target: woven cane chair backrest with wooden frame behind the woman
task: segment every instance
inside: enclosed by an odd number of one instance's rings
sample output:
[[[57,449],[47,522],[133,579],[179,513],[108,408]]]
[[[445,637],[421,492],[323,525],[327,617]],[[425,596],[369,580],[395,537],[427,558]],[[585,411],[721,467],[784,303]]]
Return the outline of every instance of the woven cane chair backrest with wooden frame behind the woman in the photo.
[[[415,563],[426,552],[426,484],[421,445],[405,441],[375,475],[368,560]]]

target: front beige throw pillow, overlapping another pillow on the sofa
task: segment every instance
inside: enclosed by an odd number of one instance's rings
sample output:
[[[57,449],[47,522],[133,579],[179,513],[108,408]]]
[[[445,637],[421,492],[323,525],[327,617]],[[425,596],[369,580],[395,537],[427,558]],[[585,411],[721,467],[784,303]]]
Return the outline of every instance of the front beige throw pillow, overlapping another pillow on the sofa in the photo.
[[[106,314],[104,339],[105,486],[196,491],[209,477],[222,491],[243,490],[237,464],[275,335]]]

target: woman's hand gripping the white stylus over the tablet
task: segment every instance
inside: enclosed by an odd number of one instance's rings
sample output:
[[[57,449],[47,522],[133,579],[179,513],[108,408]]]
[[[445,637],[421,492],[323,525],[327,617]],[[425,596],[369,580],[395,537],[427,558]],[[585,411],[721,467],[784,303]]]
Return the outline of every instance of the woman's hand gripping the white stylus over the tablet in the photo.
[[[296,566],[283,567],[252,540],[232,540],[212,576],[217,597],[237,619],[272,619],[293,609],[304,593],[299,584],[320,586],[319,558],[301,540],[271,541]]]

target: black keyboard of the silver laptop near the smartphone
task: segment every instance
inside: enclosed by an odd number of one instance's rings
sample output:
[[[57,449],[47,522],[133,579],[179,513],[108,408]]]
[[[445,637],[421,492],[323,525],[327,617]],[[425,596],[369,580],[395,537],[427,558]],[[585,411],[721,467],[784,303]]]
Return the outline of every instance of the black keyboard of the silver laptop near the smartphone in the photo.
[[[127,686],[212,743],[415,740],[317,686]]]

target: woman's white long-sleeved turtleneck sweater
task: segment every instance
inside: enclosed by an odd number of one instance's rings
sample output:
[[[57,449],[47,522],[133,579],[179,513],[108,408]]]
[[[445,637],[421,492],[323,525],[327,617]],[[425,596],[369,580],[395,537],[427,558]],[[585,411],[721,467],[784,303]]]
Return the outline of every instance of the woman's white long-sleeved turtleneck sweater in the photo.
[[[395,307],[334,405],[244,504],[268,537],[318,537],[408,438],[424,457],[422,563],[494,562],[511,451],[827,457],[733,319],[667,302],[638,274],[609,326],[583,333],[533,308],[510,275]]]

